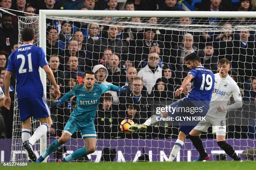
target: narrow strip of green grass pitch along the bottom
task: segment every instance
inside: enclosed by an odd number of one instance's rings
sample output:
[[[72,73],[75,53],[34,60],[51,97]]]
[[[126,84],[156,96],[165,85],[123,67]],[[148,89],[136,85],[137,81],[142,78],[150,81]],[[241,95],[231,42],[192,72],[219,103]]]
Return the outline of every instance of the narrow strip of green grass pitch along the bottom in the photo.
[[[27,167],[3,167],[0,170],[256,170],[255,161],[216,162],[68,162],[30,163]]]

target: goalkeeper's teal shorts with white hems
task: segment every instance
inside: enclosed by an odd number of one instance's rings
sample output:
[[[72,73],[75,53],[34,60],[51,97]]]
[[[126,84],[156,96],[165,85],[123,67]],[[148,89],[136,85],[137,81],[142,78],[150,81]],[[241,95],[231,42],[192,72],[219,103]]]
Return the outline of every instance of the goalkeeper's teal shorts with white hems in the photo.
[[[83,124],[82,126],[81,126],[81,123],[79,125],[77,123],[77,120],[75,120],[73,117],[69,117],[69,120],[63,129],[63,132],[66,132],[72,135],[77,130],[80,130],[81,136],[83,139],[91,138],[91,137],[97,138],[94,122],[82,123],[82,124]]]

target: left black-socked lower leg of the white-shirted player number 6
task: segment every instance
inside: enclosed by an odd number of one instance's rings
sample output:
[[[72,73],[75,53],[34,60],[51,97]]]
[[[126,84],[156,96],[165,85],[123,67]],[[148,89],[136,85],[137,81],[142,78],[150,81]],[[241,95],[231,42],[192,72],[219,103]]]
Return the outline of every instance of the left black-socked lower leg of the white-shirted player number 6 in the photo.
[[[200,156],[197,157],[194,161],[203,161],[210,159],[210,155],[208,155],[205,152],[205,148],[202,145],[202,140],[200,139],[200,134],[202,131],[199,131],[197,129],[192,129],[191,132],[189,132],[189,138],[192,141],[192,144],[195,146],[197,151],[199,152]]]

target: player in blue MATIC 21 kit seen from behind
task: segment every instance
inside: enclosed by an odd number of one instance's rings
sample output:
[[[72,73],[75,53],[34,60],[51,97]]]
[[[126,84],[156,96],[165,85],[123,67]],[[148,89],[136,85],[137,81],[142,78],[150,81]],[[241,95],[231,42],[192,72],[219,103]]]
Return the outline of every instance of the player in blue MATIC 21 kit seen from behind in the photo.
[[[14,73],[17,80],[16,91],[20,109],[20,121],[22,122],[21,138],[23,147],[25,147],[28,157],[32,161],[36,161],[32,146],[42,135],[46,135],[49,125],[51,125],[50,110],[44,96],[44,89],[38,71],[39,67],[44,69],[54,85],[54,92],[57,94],[57,98],[60,97],[60,91],[46,61],[43,48],[32,45],[35,39],[34,30],[25,28],[22,31],[21,38],[23,45],[13,51],[9,57],[5,74],[4,106],[10,109],[10,77]],[[41,122],[41,125],[32,136],[30,136],[31,117],[39,119]]]

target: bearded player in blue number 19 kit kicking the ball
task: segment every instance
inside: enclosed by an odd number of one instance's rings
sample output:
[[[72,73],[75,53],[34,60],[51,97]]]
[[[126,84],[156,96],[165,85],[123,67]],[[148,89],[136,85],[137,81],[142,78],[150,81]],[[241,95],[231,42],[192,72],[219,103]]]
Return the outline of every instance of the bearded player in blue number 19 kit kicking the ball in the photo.
[[[151,116],[149,119],[146,120],[145,123],[135,124],[129,127],[129,130],[131,132],[136,132],[138,130],[146,130],[147,126],[158,122],[159,120],[161,120],[161,118],[170,117],[171,121],[179,121],[179,135],[168,159],[168,161],[170,162],[174,160],[179,150],[184,145],[184,140],[189,132],[207,113],[210,106],[210,100],[212,97],[212,90],[214,88],[215,81],[215,76],[212,71],[205,69],[201,65],[200,57],[197,55],[197,53],[189,54],[187,57],[184,58],[184,60],[187,61],[187,67],[190,69],[190,71],[182,81],[181,87],[176,90],[175,96],[179,96],[180,94],[182,94],[183,89],[189,84],[189,82],[192,81],[193,86],[189,95],[181,99],[180,101],[177,101],[170,106],[165,107],[164,111],[161,111],[159,112],[159,114]],[[186,117],[188,120],[189,118],[192,119],[191,121],[182,122],[180,121],[181,117]]]

